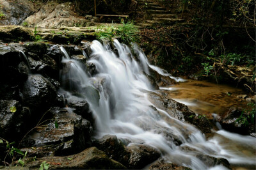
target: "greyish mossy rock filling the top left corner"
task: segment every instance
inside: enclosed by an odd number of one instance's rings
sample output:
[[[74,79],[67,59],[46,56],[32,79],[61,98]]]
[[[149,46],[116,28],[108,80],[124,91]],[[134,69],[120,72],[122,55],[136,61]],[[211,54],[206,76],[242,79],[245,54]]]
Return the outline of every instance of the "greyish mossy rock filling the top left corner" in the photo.
[[[0,19],[0,26],[19,25],[22,20],[34,13],[35,10],[33,3],[28,0],[0,0],[0,4],[0,12],[3,12],[4,14],[3,18]]]

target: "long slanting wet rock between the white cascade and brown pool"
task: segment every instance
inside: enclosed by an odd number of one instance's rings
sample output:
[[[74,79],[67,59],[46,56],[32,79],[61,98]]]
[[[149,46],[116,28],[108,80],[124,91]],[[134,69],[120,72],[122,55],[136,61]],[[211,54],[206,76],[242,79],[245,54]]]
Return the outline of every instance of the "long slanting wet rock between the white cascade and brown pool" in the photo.
[[[153,104],[155,104],[159,109],[163,109],[168,112],[168,114],[173,118],[191,123],[205,134],[211,132],[209,120],[202,115],[195,114],[195,112],[188,109],[188,106],[154,92],[148,92],[148,95],[149,100]]]

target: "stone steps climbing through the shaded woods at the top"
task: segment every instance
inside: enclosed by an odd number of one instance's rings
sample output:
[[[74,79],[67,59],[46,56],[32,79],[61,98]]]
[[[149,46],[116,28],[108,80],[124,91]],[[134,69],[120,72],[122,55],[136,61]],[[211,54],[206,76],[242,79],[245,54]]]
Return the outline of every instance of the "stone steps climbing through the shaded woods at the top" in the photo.
[[[184,19],[178,19],[177,15],[171,11],[163,8],[156,1],[153,0],[138,0],[138,5],[147,12],[150,19],[145,20],[143,23],[138,24],[139,26],[152,26],[153,24],[166,23],[175,24],[177,22],[184,22]]]

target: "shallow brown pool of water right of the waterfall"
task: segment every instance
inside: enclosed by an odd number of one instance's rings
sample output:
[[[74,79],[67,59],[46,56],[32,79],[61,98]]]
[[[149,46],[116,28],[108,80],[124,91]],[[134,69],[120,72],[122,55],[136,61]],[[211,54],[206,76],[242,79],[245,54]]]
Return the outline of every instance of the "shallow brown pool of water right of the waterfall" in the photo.
[[[225,84],[188,80],[164,87],[161,92],[177,102],[188,105],[192,111],[205,114],[209,119],[212,118],[212,113],[223,115],[230,107],[248,108],[246,101],[237,98],[237,95],[244,95],[246,92]]]

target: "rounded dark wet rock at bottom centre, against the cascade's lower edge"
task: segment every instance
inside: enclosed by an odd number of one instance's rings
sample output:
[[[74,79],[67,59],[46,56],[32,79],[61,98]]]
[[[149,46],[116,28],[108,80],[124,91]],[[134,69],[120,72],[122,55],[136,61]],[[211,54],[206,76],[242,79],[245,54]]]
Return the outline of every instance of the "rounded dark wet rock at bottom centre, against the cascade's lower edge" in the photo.
[[[131,169],[141,169],[161,156],[155,148],[143,144],[127,146],[127,152],[128,167]]]

